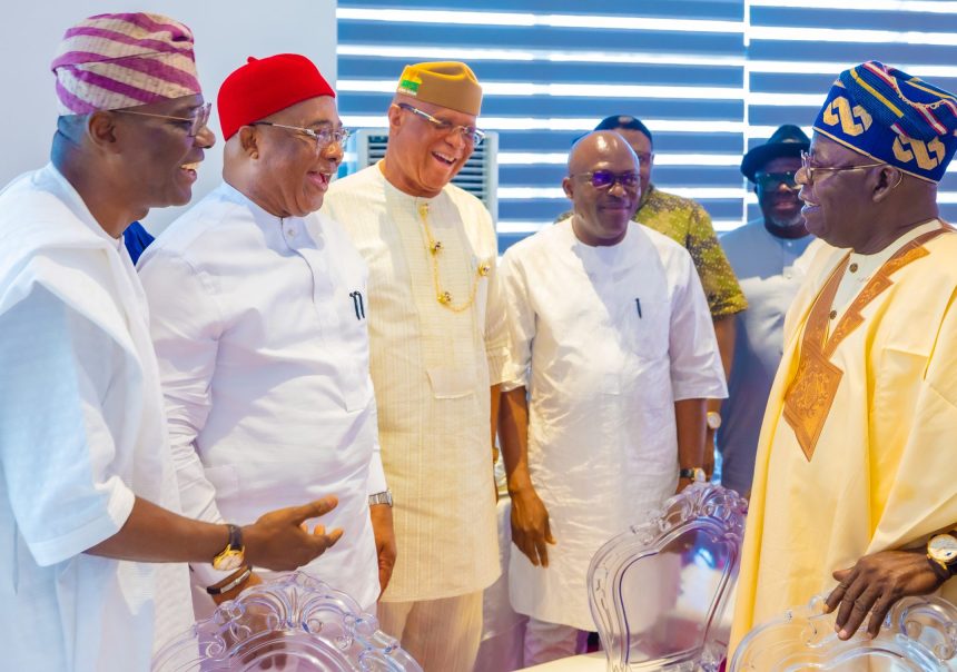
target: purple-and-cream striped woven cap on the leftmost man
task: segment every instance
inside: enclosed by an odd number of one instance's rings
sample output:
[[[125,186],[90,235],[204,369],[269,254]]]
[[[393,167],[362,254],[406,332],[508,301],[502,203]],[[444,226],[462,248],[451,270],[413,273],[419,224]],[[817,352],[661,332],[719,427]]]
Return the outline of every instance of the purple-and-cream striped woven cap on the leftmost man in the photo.
[[[193,31],[150,13],[98,14],[68,29],[50,66],[59,113],[87,115],[199,93]]]

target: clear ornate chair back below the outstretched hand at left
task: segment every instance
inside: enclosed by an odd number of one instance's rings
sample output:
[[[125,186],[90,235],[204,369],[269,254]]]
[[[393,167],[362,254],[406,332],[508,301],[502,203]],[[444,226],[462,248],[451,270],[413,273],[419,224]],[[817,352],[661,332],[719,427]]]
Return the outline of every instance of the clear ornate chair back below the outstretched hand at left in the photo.
[[[303,572],[224,602],[156,653],[152,672],[422,672],[358,603]]]

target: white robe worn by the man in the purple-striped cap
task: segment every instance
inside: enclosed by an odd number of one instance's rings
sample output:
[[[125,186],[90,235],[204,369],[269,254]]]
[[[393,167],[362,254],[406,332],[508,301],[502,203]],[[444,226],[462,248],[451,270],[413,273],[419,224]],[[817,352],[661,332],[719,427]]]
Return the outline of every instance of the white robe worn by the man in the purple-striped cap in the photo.
[[[97,557],[135,496],[179,510],[146,300],[52,167],[0,194],[0,668],[148,670],[186,564]]]

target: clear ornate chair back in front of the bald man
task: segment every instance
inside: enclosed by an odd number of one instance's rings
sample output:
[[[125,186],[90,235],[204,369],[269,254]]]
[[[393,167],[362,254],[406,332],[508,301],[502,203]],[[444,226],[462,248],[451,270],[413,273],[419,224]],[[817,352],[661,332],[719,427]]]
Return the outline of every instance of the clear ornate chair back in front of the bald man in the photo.
[[[695,483],[599,550],[589,602],[610,672],[719,669],[746,510],[733,491]]]

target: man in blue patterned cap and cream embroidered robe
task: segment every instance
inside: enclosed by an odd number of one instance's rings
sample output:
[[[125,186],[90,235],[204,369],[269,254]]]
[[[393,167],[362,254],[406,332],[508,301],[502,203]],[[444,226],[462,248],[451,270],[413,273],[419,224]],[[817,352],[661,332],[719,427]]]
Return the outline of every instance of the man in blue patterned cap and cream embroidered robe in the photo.
[[[937,181],[957,99],[871,61],[840,75],[797,180],[823,246],[785,323],[732,643],[827,595],[876,634],[901,596],[957,597],[957,235]]]

